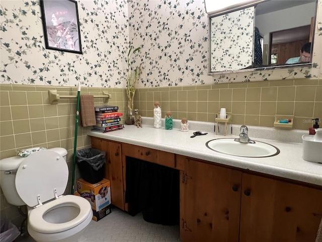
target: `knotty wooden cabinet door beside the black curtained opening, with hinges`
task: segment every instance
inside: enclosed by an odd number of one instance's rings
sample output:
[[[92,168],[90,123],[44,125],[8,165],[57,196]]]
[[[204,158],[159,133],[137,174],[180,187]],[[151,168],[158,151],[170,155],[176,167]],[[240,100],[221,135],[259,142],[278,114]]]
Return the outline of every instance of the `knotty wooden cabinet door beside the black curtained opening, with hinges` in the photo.
[[[182,164],[182,160],[178,162]],[[180,173],[181,240],[238,241],[241,172],[188,158],[184,163],[185,171]]]

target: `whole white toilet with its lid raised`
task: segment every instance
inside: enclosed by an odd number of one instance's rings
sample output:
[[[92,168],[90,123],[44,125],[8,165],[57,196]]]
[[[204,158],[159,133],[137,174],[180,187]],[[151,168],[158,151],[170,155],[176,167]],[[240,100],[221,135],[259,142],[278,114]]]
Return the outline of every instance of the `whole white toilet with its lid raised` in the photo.
[[[62,195],[68,181],[66,154],[52,148],[0,160],[4,195],[12,205],[27,205],[28,232],[39,242],[75,242],[92,220],[85,198]]]

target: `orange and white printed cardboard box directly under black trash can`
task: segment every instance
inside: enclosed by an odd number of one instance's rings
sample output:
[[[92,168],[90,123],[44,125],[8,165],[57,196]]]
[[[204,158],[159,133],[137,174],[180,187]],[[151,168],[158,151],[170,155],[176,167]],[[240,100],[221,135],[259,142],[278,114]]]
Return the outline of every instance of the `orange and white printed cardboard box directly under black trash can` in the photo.
[[[104,178],[96,184],[91,184],[79,178],[76,185],[77,192],[91,203],[93,211],[99,212],[111,204],[110,180]]]

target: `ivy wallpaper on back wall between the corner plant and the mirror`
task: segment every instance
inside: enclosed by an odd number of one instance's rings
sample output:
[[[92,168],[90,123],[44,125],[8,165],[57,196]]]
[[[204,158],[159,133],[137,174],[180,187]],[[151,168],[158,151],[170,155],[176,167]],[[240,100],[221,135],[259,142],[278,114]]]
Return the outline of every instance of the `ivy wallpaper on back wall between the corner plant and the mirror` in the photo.
[[[141,86],[211,82],[203,1],[132,1],[128,8],[130,38],[142,47]]]

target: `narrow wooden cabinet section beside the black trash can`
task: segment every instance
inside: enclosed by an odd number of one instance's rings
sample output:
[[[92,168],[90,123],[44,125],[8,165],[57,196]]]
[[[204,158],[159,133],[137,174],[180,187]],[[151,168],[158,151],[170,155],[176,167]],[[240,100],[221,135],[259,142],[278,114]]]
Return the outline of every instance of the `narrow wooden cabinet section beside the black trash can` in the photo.
[[[111,183],[111,202],[124,210],[122,146],[120,143],[95,137],[91,137],[91,141],[92,148],[106,152],[105,177]]]

